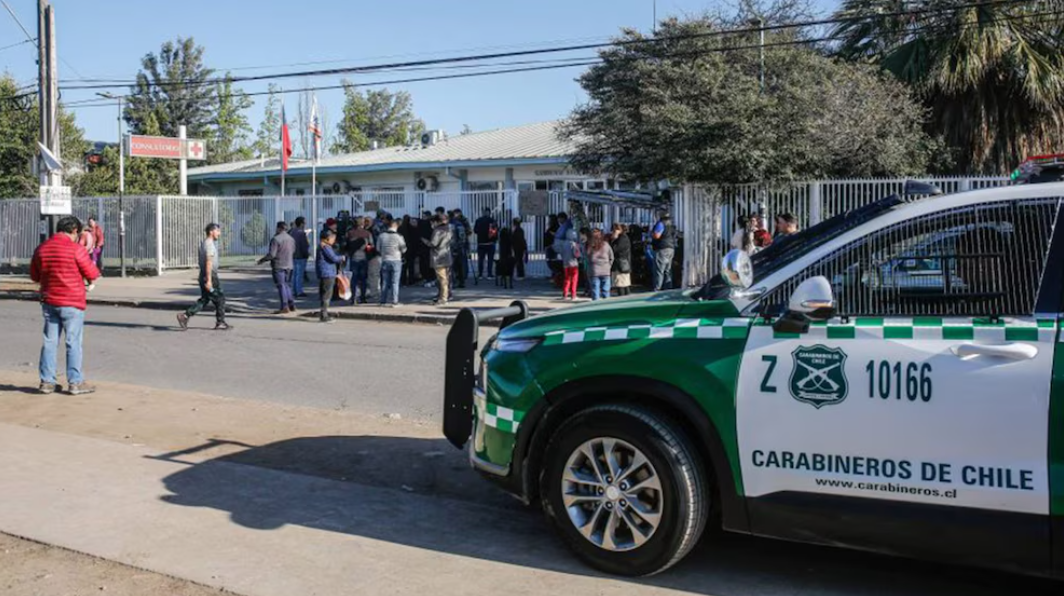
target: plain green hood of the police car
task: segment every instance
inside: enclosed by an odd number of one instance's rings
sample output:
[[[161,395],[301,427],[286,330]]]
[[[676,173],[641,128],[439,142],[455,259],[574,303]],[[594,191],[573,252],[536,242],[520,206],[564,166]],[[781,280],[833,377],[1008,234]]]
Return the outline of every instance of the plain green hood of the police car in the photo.
[[[725,316],[734,314],[734,307],[729,301],[696,302],[692,297],[695,292],[678,289],[577,304],[512,325],[500,333],[500,337],[543,337],[559,331],[583,331],[600,327],[658,327],[671,324],[694,304],[698,304],[699,314],[703,316],[714,314],[717,310]]]

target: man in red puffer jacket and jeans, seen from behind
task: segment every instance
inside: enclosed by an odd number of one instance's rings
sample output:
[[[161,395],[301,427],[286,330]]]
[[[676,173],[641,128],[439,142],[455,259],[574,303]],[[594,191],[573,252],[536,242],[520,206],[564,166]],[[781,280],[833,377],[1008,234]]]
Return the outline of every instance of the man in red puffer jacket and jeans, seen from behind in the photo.
[[[81,374],[81,331],[85,325],[85,281],[96,281],[96,268],[78,244],[82,231],[77,217],[60,219],[54,236],[37,247],[30,277],[40,284],[40,310],[45,315],[45,345],[40,348],[40,393],[55,391],[55,355],[60,332],[66,335],[67,383],[70,395],[96,391]]]

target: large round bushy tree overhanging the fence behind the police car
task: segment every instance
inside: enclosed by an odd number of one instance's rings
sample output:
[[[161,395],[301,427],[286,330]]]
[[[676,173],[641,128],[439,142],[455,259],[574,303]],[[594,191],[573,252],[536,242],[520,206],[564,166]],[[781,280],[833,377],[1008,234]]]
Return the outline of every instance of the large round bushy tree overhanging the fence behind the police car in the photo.
[[[710,184],[921,173],[933,146],[894,81],[833,61],[800,33],[771,32],[765,88],[755,34],[713,35],[713,17],[626,30],[581,78],[588,102],[560,134],[573,167],[641,181]],[[633,43],[636,42],[636,43]],[[774,45],[775,44],[775,45]],[[751,46],[754,49],[751,51]]]

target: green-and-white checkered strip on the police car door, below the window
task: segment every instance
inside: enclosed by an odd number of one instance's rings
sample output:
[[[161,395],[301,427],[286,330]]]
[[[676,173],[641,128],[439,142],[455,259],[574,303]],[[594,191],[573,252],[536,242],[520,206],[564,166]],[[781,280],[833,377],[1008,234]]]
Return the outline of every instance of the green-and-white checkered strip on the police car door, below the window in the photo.
[[[808,333],[779,333],[778,340],[958,340],[978,342],[1054,342],[1057,322],[1027,318],[854,317],[810,326]]]

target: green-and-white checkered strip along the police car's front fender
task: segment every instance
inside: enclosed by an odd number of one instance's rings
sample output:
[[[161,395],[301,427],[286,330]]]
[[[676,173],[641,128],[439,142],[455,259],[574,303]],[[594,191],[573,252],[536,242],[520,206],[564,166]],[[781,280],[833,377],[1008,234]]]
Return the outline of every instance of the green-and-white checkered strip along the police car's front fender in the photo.
[[[744,340],[750,331],[749,318],[682,318],[665,325],[591,327],[579,331],[552,331],[545,346],[624,342],[629,340]]]

